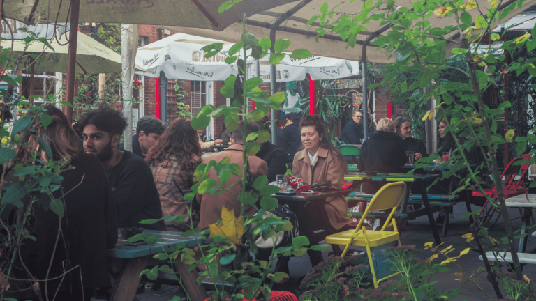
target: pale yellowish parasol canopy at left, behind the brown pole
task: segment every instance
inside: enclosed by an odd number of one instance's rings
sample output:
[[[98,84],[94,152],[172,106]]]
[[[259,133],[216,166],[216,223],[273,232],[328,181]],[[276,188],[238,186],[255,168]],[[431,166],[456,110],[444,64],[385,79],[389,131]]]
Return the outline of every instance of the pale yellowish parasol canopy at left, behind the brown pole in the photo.
[[[67,72],[68,44],[67,35],[61,36],[60,45],[56,39],[49,41],[51,47],[45,46],[38,41],[31,42],[26,52],[44,52],[36,61],[36,72]],[[13,51],[24,51],[24,40],[13,42]],[[136,66],[137,69],[143,70]],[[98,43],[93,38],[80,34],[77,40],[76,73],[98,74],[121,72],[121,55],[113,52],[110,48]]]

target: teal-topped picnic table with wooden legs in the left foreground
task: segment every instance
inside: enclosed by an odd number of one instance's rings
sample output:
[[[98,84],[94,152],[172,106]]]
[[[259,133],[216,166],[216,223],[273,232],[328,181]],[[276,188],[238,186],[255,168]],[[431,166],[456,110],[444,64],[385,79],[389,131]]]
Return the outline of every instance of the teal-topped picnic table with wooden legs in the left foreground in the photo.
[[[121,237],[121,231],[119,231],[119,239],[115,247],[107,250],[110,278],[113,285],[110,301],[137,300],[135,294],[137,286],[142,279],[140,272],[145,270],[147,266],[167,264],[165,261],[154,259],[155,254],[161,253],[170,247],[176,247],[179,244],[184,247],[195,247],[198,242],[201,244],[206,242],[200,236],[184,238],[181,232],[145,230],[143,233],[149,236],[156,235],[157,238],[165,241],[157,242],[154,245],[125,245],[126,240]],[[196,282],[198,278],[196,270],[188,273],[188,265],[184,263],[175,263],[174,270],[179,272],[182,284],[193,301],[209,298],[204,286],[198,285]]]

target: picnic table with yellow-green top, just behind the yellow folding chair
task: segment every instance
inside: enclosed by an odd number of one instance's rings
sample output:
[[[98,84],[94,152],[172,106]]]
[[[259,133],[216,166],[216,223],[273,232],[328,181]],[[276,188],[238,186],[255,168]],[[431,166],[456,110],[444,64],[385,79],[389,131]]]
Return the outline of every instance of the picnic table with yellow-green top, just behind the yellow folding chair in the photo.
[[[430,222],[430,227],[432,229],[433,238],[436,244],[441,243],[441,238],[439,237],[438,229],[435,227],[435,222],[433,220],[433,211],[430,206],[430,201],[428,199],[428,194],[426,193],[426,182],[437,178],[438,174],[412,174],[408,176],[405,173],[378,173],[376,175],[367,175],[366,173],[350,173],[344,176],[344,180],[349,181],[362,181],[362,182],[405,182],[408,185],[408,192],[411,190],[411,186],[415,183],[420,185],[422,202],[424,203],[423,209],[413,210],[408,214],[408,218],[417,217],[426,215]],[[408,193],[409,194],[409,193]],[[408,206],[408,197],[405,197],[401,203],[401,213],[406,213],[406,207]],[[424,213],[424,214],[422,214]]]

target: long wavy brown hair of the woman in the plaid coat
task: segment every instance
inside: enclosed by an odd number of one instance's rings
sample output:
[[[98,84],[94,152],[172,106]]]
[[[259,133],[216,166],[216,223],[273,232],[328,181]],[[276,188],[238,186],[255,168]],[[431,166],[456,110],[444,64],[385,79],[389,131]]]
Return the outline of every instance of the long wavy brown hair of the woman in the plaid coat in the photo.
[[[194,158],[194,155],[197,157]],[[149,165],[156,165],[169,160],[170,157],[175,157],[185,171],[195,171],[198,167],[198,160],[201,158],[199,136],[188,119],[179,118],[172,121],[156,146],[147,152],[145,161]]]

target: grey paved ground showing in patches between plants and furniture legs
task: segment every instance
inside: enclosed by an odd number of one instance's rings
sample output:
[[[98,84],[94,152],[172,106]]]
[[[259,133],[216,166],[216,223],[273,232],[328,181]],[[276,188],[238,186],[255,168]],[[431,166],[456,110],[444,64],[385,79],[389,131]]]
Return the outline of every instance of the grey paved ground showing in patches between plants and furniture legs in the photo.
[[[473,206],[473,210],[476,209],[477,206]],[[468,219],[460,219],[461,215],[464,212],[464,204],[459,203],[458,205],[454,206],[454,219],[451,219],[447,236],[445,238],[442,238],[442,242],[444,242],[445,245],[452,245],[456,248],[456,254],[458,254],[457,252],[466,248],[465,238],[461,238],[461,236],[467,233],[469,229]],[[435,213],[435,215],[437,215],[437,213]],[[519,210],[510,209],[510,215],[511,217],[518,216]],[[513,223],[514,226],[519,227],[521,226],[521,219],[516,219],[513,221]],[[493,238],[496,238],[498,241],[500,241],[500,238],[505,236],[502,218],[499,219],[499,222],[496,224],[495,227],[489,230],[489,233]],[[428,258],[431,253],[429,251],[424,250],[424,243],[433,241],[433,236],[426,217],[419,217],[416,220],[410,221],[408,226],[401,233],[401,241],[404,245],[416,245],[417,249],[419,249],[419,258]],[[528,249],[535,248],[536,238],[529,236]],[[325,258],[327,258],[327,253],[329,252],[331,252],[331,249],[327,249],[324,251]],[[486,280],[486,272],[477,273],[477,268],[483,266],[482,261],[479,261],[478,254],[470,252],[465,256],[462,256],[459,260],[459,263],[468,275],[472,275],[473,273],[477,274],[476,279],[478,284],[491,297],[491,300],[497,299],[495,293],[493,292],[491,284]],[[449,264],[447,265],[447,267],[451,269],[450,272],[443,272],[433,276],[433,280],[439,281],[438,284],[436,284],[436,287],[439,291],[463,286],[461,288],[461,295],[459,295],[458,298],[455,298],[455,300],[490,300],[490,298],[486,297],[484,293],[479,291],[474,284],[468,283],[467,280],[463,280],[462,284],[460,284],[460,281],[456,280],[457,277],[453,275],[454,272],[459,272],[459,270],[457,270],[454,265]],[[309,270],[311,270],[311,263],[308,260],[308,257],[305,256],[301,258],[292,258],[290,260],[290,281],[288,281],[288,283],[285,284],[283,288],[285,290],[295,292],[299,297],[299,294],[301,294],[301,292],[297,291],[297,280],[299,279],[299,277],[305,276]],[[503,270],[505,271],[505,269]],[[523,274],[526,274],[527,277],[536,281],[535,266],[526,265],[523,268]],[[158,291],[152,291],[151,288],[147,288],[144,293],[138,293],[136,297],[139,300],[144,301],[168,301],[172,299],[173,295],[181,295],[184,297],[184,294],[181,293],[179,288],[165,285],[163,285],[162,288]]]

